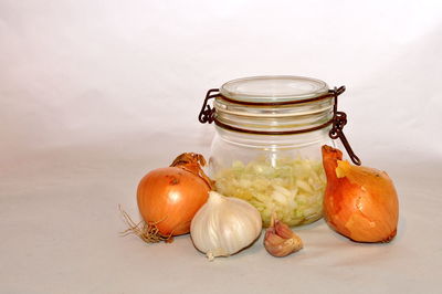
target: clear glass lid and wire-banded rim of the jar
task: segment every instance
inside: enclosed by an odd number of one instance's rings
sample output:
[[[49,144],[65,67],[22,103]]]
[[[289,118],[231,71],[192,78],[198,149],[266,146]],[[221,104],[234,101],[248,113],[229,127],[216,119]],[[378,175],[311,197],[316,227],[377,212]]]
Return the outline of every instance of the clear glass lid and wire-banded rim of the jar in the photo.
[[[253,134],[295,134],[332,124],[328,85],[301,76],[253,76],[227,82],[213,102],[217,126]]]

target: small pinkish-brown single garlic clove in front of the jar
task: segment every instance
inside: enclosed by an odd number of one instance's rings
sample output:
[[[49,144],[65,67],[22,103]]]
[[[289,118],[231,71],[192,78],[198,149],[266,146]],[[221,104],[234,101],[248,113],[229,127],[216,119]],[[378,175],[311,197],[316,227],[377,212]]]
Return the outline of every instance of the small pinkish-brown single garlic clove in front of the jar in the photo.
[[[271,227],[265,231],[264,246],[273,256],[283,258],[299,251],[303,248],[303,241],[287,224],[273,214]]]

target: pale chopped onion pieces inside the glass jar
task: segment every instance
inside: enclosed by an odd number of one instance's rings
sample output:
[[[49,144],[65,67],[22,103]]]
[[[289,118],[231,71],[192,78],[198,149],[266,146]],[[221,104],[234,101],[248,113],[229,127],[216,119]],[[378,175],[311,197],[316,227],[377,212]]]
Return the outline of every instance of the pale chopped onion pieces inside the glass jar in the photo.
[[[253,204],[265,227],[273,212],[288,225],[311,223],[323,216],[326,177],[319,160],[282,158],[273,165],[264,158],[246,165],[238,160],[214,179],[222,195]]]

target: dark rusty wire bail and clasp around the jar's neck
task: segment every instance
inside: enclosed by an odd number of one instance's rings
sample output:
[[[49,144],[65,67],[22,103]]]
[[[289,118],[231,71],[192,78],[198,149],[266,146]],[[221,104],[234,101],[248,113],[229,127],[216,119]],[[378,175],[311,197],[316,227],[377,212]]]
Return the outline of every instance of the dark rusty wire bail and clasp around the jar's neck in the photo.
[[[322,96],[318,96],[318,97],[315,97],[315,98],[304,99],[304,101],[291,102],[291,104],[308,103],[308,102],[318,101],[318,99],[323,99],[323,98],[333,96],[335,98],[335,104],[334,104],[334,108],[333,108],[334,116],[329,122],[325,123],[324,125],[322,125],[319,127],[323,128],[323,127],[326,127],[326,126],[332,124],[332,129],[328,133],[328,136],[332,139],[339,138],[340,141],[343,143],[344,147],[346,148],[346,151],[347,151],[348,156],[350,157],[351,161],[355,165],[360,166],[361,161],[360,161],[359,157],[356,156],[355,151],[351,149],[351,146],[348,143],[348,140],[347,140],[347,138],[346,138],[346,136],[344,135],[344,132],[343,132],[344,126],[347,124],[347,115],[344,112],[338,112],[338,96],[340,94],[343,94],[345,91],[346,91],[345,86],[340,86],[339,88],[335,87],[334,90],[329,90],[328,93],[325,94],[325,95],[322,95]],[[206,123],[211,124],[211,123],[217,120],[217,118],[215,118],[215,109],[214,109],[214,107],[211,107],[209,105],[209,101],[211,98],[215,98],[215,97],[219,97],[219,96],[221,96],[219,88],[211,88],[206,94],[204,103],[202,104],[200,114],[198,116],[198,120],[201,124],[206,124]],[[223,97],[223,98],[227,98],[227,97]],[[235,102],[235,103],[241,104],[241,102]],[[254,103],[244,103],[244,104],[254,104]],[[278,104],[283,105],[283,104],[287,104],[287,103],[286,102],[284,102],[284,103],[271,103],[271,105],[278,105]],[[218,122],[218,125],[222,126],[223,124]],[[228,127],[228,126],[224,126],[224,127]],[[303,129],[303,130],[296,130],[296,132],[290,132],[290,133],[282,132],[281,134],[288,135],[288,134],[307,133],[307,132],[316,130],[319,127],[306,128],[306,129]],[[232,127],[229,127],[229,128],[230,129],[234,129]],[[243,130],[243,132],[263,134],[263,133],[251,132],[251,130]],[[269,135],[274,135],[274,134],[270,134],[269,133]]]

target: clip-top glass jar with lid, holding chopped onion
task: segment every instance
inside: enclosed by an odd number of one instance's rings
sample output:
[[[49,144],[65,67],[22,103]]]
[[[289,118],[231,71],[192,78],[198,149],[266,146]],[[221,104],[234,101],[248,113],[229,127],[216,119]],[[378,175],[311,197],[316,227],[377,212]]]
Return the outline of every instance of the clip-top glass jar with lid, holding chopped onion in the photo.
[[[320,219],[322,146],[335,146],[344,91],[301,76],[245,77],[209,91],[199,118],[215,124],[209,175],[217,190],[249,201],[265,227],[272,213],[288,225]]]

